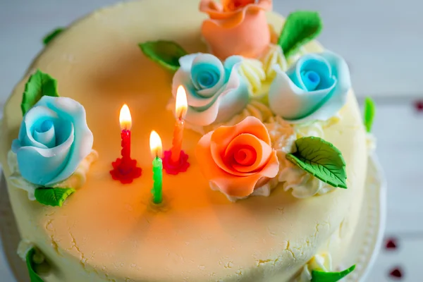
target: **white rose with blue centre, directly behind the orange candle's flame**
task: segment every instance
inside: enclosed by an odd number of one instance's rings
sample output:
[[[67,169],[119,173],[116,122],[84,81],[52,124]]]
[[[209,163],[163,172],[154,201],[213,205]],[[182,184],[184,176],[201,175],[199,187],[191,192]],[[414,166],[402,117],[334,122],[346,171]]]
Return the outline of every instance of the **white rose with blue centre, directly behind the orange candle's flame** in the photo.
[[[173,97],[183,85],[187,91],[185,120],[205,126],[226,121],[248,103],[244,78],[238,73],[241,56],[231,56],[222,63],[211,54],[190,54],[179,59],[180,68],[173,77]]]

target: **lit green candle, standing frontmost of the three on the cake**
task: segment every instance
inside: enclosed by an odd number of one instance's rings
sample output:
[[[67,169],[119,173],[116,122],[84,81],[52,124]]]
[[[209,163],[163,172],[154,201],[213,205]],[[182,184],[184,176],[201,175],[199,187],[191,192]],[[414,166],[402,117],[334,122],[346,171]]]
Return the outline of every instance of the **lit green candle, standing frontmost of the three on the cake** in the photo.
[[[163,164],[161,162],[161,139],[156,131],[150,134],[150,149],[153,156],[153,180],[154,185],[152,189],[154,204],[160,204],[162,197],[162,180],[163,180]]]

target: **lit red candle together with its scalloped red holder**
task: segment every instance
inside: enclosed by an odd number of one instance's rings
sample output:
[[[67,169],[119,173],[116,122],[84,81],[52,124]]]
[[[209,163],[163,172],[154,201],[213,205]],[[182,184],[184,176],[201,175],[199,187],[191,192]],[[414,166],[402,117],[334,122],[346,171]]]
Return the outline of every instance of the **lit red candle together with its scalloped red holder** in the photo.
[[[119,180],[121,183],[132,183],[135,178],[141,176],[142,170],[137,167],[137,161],[130,158],[130,128],[132,127],[132,118],[126,104],[121,108],[119,122],[121,123],[122,157],[111,163],[114,169],[110,171],[110,174],[114,180]]]

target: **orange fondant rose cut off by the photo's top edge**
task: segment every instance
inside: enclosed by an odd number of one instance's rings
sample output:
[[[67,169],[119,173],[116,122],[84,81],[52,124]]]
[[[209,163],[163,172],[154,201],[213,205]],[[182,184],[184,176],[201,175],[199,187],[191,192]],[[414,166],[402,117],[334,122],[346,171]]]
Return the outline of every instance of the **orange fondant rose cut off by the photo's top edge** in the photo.
[[[202,0],[200,11],[209,14],[204,20],[202,35],[212,53],[221,59],[240,55],[257,58],[270,43],[265,11],[271,0]]]

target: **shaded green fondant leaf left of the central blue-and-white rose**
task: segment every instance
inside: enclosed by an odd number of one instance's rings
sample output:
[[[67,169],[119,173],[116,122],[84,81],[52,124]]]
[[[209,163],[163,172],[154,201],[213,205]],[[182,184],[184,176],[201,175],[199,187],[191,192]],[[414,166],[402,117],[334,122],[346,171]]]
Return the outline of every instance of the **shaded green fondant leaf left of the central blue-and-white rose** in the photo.
[[[176,42],[172,41],[159,40],[140,43],[140,48],[145,56],[170,71],[178,71],[180,67],[179,58],[188,54]]]

